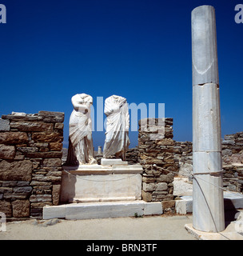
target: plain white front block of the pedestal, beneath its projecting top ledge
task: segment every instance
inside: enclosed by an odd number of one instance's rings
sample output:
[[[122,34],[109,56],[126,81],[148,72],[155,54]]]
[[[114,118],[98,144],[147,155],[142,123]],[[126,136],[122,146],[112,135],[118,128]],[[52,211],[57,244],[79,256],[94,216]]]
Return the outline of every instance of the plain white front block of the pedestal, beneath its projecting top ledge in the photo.
[[[82,172],[62,177],[61,202],[141,199],[141,174],[92,174]],[[53,176],[52,176],[53,177]],[[48,178],[48,176],[46,177]]]

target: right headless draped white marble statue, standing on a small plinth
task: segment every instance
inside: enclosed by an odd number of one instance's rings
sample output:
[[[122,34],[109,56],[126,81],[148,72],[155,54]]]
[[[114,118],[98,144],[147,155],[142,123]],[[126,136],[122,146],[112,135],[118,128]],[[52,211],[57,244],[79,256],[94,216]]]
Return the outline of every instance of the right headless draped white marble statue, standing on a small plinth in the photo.
[[[116,154],[117,158],[125,160],[125,152],[129,148],[129,111],[126,99],[117,95],[106,98],[104,112],[107,121],[103,157]]]

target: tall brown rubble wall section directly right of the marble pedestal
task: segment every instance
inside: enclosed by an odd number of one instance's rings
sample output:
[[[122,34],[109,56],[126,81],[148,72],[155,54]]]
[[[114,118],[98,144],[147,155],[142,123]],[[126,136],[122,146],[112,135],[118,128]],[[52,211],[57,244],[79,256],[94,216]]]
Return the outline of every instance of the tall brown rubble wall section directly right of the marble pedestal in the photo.
[[[144,169],[142,199],[145,202],[162,201],[164,210],[173,209],[172,182],[178,171],[178,162],[174,158],[173,118],[165,118],[161,131],[158,130],[160,119],[153,120],[151,124],[151,118],[139,121],[139,162]]]

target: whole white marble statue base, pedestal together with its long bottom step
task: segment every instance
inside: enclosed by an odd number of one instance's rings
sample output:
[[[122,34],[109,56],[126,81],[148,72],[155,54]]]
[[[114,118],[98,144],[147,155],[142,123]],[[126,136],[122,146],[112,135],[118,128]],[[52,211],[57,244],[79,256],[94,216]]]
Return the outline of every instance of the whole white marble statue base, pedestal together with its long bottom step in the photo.
[[[162,214],[161,202],[141,200],[141,165],[129,166],[121,165],[119,161],[111,162],[114,165],[63,166],[62,204],[44,206],[43,219]]]

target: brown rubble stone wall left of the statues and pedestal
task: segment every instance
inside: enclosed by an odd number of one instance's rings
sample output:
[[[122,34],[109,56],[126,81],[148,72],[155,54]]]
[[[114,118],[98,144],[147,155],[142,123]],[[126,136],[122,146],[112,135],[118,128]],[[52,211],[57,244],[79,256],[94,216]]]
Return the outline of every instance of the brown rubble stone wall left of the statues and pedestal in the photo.
[[[41,217],[58,205],[64,113],[12,113],[0,119],[0,211],[7,218]]]

